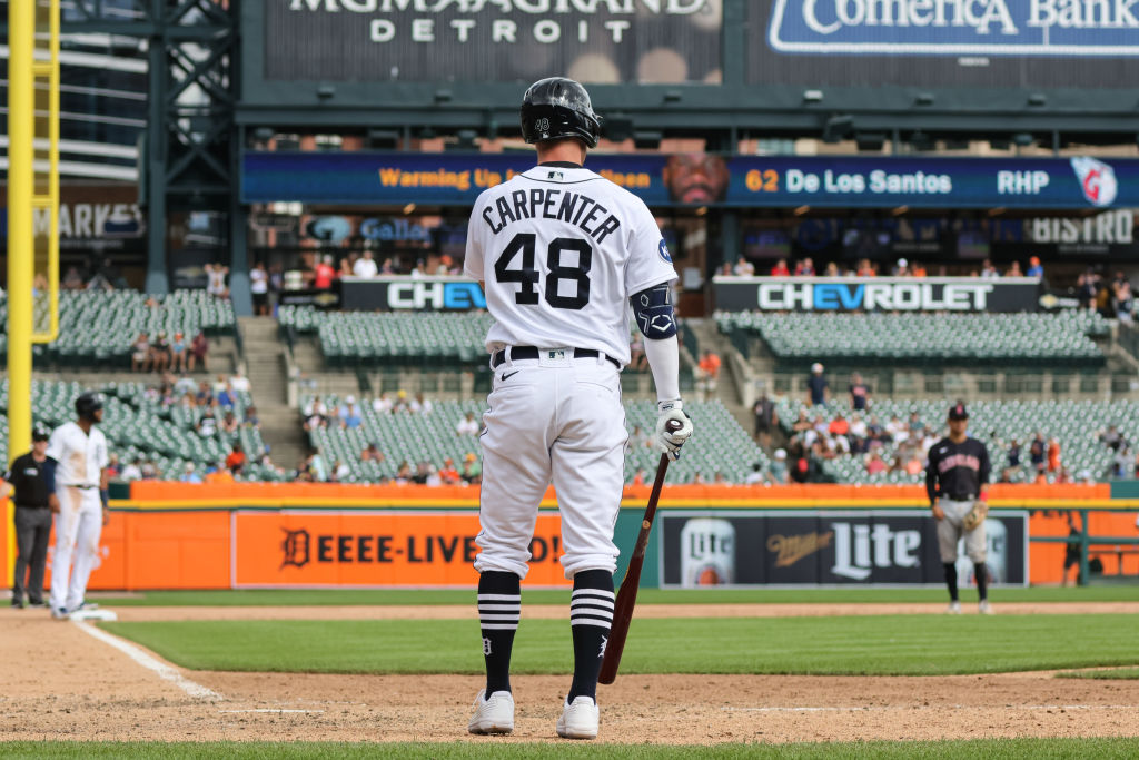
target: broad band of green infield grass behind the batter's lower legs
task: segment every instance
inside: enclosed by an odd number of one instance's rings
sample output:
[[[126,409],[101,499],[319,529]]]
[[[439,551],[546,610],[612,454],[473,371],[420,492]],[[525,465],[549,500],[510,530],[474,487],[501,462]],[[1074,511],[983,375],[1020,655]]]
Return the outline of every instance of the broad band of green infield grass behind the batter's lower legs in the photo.
[[[1139,615],[863,615],[633,620],[624,673],[932,676],[1139,664]],[[483,672],[466,620],[103,623],[192,670]],[[968,645],[965,646],[965,643]],[[514,672],[572,671],[570,627],[526,620]]]

